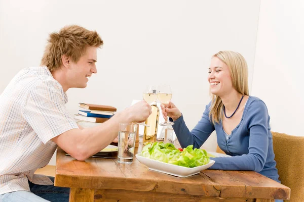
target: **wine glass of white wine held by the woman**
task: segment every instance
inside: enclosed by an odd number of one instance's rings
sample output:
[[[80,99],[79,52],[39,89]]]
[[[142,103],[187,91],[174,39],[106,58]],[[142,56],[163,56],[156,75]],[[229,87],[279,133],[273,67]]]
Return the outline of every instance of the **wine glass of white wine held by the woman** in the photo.
[[[168,108],[170,100],[172,98],[172,91],[170,85],[161,85],[158,89],[158,99],[164,105],[164,110]],[[173,125],[173,122],[168,121],[168,117],[164,123],[160,123],[161,126]]]

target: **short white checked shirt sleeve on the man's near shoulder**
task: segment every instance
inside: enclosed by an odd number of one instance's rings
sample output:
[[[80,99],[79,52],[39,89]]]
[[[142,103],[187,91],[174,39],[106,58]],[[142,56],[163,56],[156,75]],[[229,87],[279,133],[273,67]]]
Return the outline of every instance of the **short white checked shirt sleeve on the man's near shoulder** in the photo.
[[[62,87],[54,80],[40,80],[33,84],[23,108],[23,116],[44,144],[68,130],[78,128],[65,108]]]

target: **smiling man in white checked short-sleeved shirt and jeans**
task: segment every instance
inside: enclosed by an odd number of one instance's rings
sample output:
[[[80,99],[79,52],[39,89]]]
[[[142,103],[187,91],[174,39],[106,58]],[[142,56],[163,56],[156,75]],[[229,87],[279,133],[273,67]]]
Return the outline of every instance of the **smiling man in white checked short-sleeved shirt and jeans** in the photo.
[[[57,145],[84,161],[117,137],[119,123],[150,115],[144,101],[94,128],[80,128],[68,114],[66,91],[85,88],[97,73],[102,44],[96,31],[64,27],[50,34],[42,66],[21,70],[0,95],[0,201],[68,201],[68,188],[33,174],[49,163]]]

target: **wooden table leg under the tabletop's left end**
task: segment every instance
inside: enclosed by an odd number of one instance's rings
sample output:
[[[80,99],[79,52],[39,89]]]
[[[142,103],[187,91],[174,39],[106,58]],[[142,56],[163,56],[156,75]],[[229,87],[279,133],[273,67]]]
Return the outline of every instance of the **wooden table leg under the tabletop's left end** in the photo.
[[[69,202],[93,202],[94,189],[70,188]]]

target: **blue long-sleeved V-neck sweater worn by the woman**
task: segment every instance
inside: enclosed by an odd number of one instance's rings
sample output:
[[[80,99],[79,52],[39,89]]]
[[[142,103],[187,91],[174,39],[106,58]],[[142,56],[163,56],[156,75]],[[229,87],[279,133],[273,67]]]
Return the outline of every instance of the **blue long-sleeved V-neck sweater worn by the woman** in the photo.
[[[183,116],[172,126],[182,147],[194,145],[199,148],[215,130],[218,146],[232,157],[210,158],[215,164],[210,169],[256,171],[277,182],[278,170],[270,131],[268,110],[264,102],[250,96],[244,108],[239,125],[226,140],[222,123],[213,124],[209,120],[211,102],[206,106],[202,119],[192,131],[187,128]],[[170,118],[170,121],[173,121]]]

